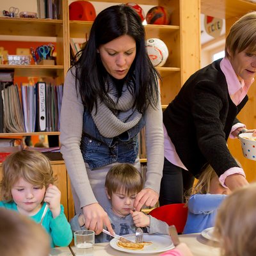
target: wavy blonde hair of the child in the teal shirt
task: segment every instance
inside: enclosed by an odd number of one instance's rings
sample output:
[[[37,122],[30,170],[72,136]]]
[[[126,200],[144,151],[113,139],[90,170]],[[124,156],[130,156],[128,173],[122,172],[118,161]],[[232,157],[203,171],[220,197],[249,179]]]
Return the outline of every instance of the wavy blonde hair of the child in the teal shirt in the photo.
[[[11,189],[20,178],[45,188],[56,180],[49,159],[35,150],[22,150],[6,157],[3,162],[3,179],[0,182],[4,201],[13,200]]]

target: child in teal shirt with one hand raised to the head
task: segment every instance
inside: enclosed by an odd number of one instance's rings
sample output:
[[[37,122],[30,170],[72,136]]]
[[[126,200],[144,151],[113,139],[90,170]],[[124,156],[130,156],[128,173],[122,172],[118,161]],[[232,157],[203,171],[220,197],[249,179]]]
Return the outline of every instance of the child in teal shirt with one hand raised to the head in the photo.
[[[3,163],[0,207],[40,223],[48,204],[42,226],[51,235],[51,246],[67,246],[72,241],[72,231],[54,181],[51,163],[44,154],[33,150],[15,152]]]

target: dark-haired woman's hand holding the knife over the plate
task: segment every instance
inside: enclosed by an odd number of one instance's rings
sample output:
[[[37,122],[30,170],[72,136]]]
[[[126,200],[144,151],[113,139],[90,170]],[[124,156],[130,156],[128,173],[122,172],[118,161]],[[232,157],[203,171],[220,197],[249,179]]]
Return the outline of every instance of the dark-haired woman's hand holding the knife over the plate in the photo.
[[[115,234],[107,212],[98,203],[84,206],[83,214],[85,218],[84,226],[88,230],[94,230],[95,234],[98,235],[102,232],[103,225],[105,225],[111,234]]]

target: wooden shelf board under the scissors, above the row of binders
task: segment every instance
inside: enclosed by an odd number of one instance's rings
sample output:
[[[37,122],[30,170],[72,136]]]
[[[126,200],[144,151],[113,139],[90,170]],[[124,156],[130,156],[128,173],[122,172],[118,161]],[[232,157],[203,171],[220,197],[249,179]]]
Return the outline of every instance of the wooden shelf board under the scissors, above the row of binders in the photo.
[[[44,77],[58,77],[60,72],[63,73],[63,65],[0,65],[1,70],[14,69],[15,76],[44,76]]]

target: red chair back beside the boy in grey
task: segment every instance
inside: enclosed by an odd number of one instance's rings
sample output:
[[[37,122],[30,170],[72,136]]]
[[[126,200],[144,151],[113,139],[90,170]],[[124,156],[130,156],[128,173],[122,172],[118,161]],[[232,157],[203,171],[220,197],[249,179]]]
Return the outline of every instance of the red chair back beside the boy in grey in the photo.
[[[188,218],[188,207],[185,204],[167,204],[150,211],[152,217],[165,221],[169,226],[175,225],[177,232],[182,233]]]

